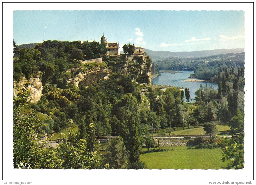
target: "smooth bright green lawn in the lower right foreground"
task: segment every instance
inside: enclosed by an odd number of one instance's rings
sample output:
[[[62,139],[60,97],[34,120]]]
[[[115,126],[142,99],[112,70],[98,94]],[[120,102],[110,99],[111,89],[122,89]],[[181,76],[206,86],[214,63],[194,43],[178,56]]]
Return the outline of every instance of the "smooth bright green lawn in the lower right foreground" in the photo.
[[[221,149],[191,149],[186,146],[174,146],[173,150],[142,154],[140,161],[148,169],[222,169]]]

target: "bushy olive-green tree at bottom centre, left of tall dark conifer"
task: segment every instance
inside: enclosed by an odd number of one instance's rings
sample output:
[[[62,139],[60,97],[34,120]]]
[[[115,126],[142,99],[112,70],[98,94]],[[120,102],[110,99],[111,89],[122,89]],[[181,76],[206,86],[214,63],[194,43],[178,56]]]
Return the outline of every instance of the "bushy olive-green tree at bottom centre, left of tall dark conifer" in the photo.
[[[108,152],[104,164],[109,164],[109,168],[126,169],[129,163],[126,148],[122,137],[116,137],[109,141]]]

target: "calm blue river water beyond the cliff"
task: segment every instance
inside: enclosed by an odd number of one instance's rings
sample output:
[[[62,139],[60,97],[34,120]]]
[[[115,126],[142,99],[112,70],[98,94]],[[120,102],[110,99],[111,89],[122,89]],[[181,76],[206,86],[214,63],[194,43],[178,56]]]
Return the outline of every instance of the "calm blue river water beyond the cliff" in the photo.
[[[200,88],[200,84],[205,86],[205,82],[185,82],[183,80],[189,79],[188,76],[194,73],[194,71],[183,71],[183,73],[161,73],[161,76],[152,79],[152,83],[154,84],[161,84],[161,85],[170,85],[175,87],[183,87],[189,88],[190,90],[190,97],[195,100],[195,92]],[[217,83],[207,83],[207,87],[212,85],[214,89],[217,90],[218,84]],[[185,101],[185,97],[184,97]]]

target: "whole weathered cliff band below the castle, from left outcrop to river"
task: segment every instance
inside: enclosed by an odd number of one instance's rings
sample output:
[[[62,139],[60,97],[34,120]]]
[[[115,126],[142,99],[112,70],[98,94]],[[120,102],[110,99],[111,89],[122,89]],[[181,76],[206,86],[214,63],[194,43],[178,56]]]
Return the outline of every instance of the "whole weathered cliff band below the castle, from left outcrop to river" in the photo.
[[[134,74],[134,82],[151,85],[151,66],[152,61],[149,56],[137,56],[137,55],[116,55],[111,56],[113,58],[120,58],[120,62],[107,68],[93,67],[91,69],[76,68],[68,70],[74,76],[67,79],[68,83],[72,83],[78,87],[79,85],[88,86],[95,81],[101,79],[108,79],[111,73],[123,73],[128,75],[129,73]],[[84,60],[81,63],[101,63],[102,59]],[[140,64],[140,65],[138,65]],[[136,67],[135,67],[136,66]]]

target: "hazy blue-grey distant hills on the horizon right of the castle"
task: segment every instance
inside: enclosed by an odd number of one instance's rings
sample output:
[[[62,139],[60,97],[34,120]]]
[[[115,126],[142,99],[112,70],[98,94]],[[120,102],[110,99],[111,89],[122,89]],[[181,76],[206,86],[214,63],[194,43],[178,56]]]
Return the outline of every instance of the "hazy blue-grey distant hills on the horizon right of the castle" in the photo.
[[[178,57],[178,58],[197,58],[197,57],[206,57],[219,54],[228,54],[228,53],[242,53],[244,48],[237,49],[218,49],[218,50],[205,50],[205,51],[192,51],[192,52],[169,52],[169,51],[152,51],[144,49],[150,58],[153,61],[162,60],[165,58]]]

